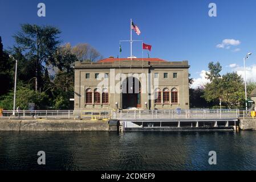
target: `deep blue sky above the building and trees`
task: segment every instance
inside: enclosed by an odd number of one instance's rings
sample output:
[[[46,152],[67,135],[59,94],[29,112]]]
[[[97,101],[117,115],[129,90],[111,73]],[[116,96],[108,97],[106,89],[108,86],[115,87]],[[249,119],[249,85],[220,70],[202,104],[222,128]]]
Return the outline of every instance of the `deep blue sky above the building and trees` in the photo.
[[[40,2],[46,5],[43,18],[37,16]],[[208,15],[211,2],[217,5],[217,17]],[[132,18],[141,31],[140,36],[133,32],[133,38],[152,45],[151,57],[189,60],[189,72],[197,82],[206,81],[202,71],[207,71],[209,61],[220,61],[222,73],[237,71],[242,75],[247,52],[253,52],[246,63],[248,79],[256,81],[255,7],[254,0],[0,0],[0,36],[8,48],[13,46],[12,36],[21,23],[47,24],[62,30],[63,44],[89,43],[103,57],[116,57],[119,40],[129,39]],[[218,48],[218,44],[222,46]],[[121,57],[129,56],[129,43],[123,43],[122,49]],[[133,55],[142,56],[140,43],[133,44]]]

